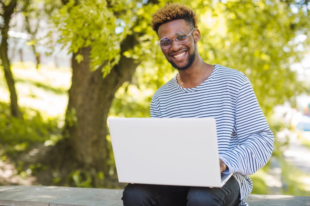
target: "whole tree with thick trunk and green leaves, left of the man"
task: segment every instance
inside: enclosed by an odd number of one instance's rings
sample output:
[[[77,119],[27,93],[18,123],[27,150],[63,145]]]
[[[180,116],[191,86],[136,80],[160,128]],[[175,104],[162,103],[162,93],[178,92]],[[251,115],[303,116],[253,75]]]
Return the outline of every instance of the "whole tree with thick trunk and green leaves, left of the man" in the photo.
[[[115,92],[131,79],[141,62],[124,55],[142,42],[139,37],[144,32],[132,32],[131,28],[147,26],[145,19],[135,14],[137,3],[68,1],[54,15],[61,32],[59,42],[70,44],[73,53],[64,139],[55,146],[62,151],[55,161],[56,167],[62,168],[61,176],[78,171],[89,176],[93,186],[107,186],[111,161],[106,120]],[[144,6],[153,4],[149,1]],[[104,177],[107,179],[102,182]]]

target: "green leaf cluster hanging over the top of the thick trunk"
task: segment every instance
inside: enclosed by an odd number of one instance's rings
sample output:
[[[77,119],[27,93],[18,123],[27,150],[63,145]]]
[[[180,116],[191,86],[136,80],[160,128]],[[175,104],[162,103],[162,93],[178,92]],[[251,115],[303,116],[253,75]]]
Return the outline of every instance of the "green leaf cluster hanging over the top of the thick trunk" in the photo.
[[[78,4],[70,0],[52,17],[61,33],[58,42],[69,45],[73,53],[91,46],[91,69],[103,65],[106,75],[120,59],[120,44],[130,33],[133,5],[124,0],[87,0]],[[77,60],[83,61],[80,56]]]

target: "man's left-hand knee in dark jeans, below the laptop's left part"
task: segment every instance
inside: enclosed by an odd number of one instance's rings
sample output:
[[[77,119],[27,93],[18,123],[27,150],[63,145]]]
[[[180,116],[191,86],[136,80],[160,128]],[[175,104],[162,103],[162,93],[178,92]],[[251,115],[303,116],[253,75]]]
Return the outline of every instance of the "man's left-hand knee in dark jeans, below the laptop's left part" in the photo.
[[[122,200],[125,206],[154,205],[148,189],[140,184],[128,184],[123,191]]]

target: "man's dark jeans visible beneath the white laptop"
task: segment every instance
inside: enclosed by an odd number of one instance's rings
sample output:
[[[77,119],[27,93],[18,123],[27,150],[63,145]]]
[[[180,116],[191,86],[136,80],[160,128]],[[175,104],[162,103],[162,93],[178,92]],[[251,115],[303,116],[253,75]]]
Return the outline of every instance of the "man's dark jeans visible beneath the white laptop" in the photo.
[[[221,188],[129,183],[122,197],[124,206],[236,206],[239,199],[240,189],[234,177]]]

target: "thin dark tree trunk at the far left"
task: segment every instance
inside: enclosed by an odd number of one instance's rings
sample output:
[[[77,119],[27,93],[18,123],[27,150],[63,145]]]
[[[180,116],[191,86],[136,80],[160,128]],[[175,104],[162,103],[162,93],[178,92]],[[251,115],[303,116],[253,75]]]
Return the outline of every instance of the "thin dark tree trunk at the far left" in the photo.
[[[2,9],[4,10],[4,13],[2,15],[3,17],[3,26],[1,27],[1,36],[2,41],[0,44],[0,57],[2,60],[2,66],[4,69],[4,76],[7,81],[7,86],[10,91],[10,98],[11,98],[11,114],[15,117],[21,117],[20,109],[18,107],[17,103],[17,95],[15,90],[15,82],[14,78],[11,72],[11,66],[10,61],[7,56],[7,48],[8,48],[8,31],[9,31],[9,22],[11,20],[11,15],[14,12],[14,8],[16,6],[17,0],[12,0],[8,6],[5,6],[4,3],[2,4]]]

